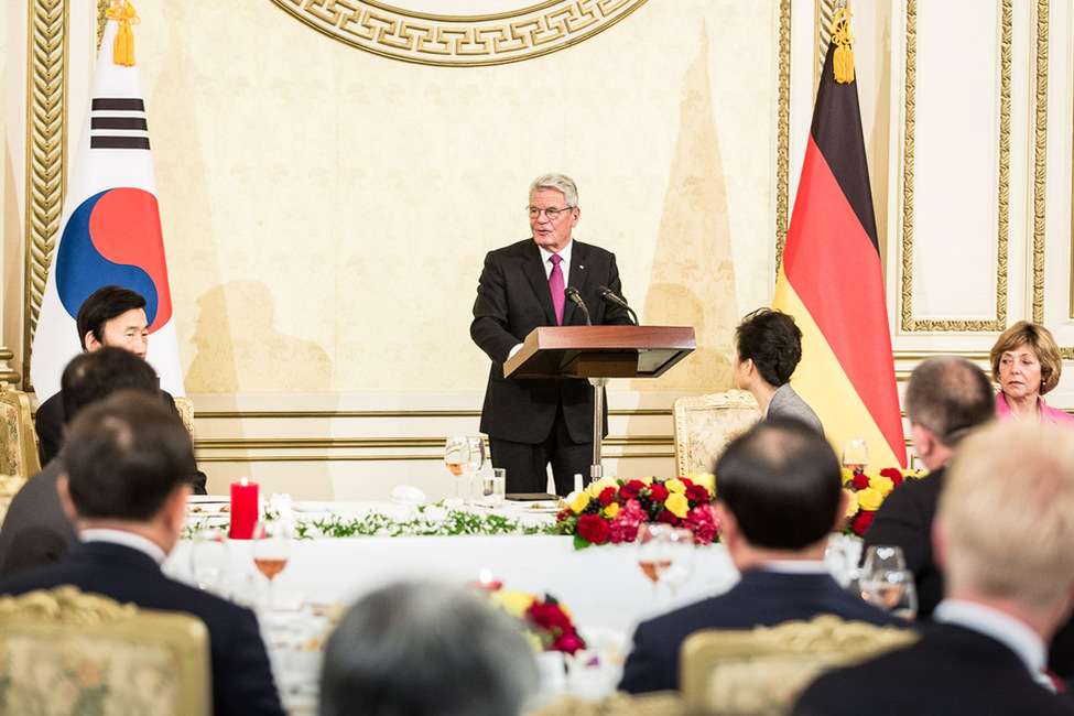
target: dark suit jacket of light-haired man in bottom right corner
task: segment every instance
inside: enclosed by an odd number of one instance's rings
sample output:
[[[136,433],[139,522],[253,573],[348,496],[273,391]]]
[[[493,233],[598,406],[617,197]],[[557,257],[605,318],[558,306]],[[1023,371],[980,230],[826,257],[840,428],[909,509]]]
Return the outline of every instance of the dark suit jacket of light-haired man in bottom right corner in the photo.
[[[932,625],[920,641],[826,674],[794,708],[798,716],[1059,716],[1074,702],[1033,681],[1000,642],[954,625]]]

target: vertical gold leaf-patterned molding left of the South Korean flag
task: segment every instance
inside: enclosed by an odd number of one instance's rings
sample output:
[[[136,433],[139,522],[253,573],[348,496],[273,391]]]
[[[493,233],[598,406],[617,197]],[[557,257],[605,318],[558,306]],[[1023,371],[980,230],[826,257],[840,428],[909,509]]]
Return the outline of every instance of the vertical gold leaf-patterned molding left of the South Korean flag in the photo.
[[[26,234],[23,286],[23,386],[67,186],[66,0],[33,0],[26,37]]]

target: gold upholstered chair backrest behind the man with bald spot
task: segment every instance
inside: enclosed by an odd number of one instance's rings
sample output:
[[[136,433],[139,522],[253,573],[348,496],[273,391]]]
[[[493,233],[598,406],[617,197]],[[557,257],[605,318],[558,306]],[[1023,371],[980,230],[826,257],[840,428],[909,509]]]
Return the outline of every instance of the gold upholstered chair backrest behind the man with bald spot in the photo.
[[[683,642],[683,697],[690,713],[789,714],[823,672],[909,647],[916,639],[908,629],[832,615],[747,630],[706,629]]]

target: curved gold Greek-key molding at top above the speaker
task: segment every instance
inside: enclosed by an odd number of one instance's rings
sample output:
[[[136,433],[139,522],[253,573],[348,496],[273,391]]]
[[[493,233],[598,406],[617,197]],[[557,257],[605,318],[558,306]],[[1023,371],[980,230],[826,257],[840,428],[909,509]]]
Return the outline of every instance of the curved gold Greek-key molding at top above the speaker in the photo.
[[[540,57],[607,30],[646,0],[544,0],[492,15],[447,17],[372,0],[272,0],[346,45],[381,57],[480,67]]]

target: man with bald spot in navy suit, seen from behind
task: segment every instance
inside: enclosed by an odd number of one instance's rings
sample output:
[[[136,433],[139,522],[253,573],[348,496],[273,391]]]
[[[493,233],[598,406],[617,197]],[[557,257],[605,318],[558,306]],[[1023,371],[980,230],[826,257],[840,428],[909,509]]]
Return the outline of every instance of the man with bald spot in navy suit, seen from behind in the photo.
[[[824,436],[791,417],[758,423],[716,463],[720,542],[742,579],[727,594],[646,621],[619,687],[679,688],[679,650],[701,629],[752,629],[832,614],[902,623],[844,592],[824,565],[846,513],[839,460]]]

